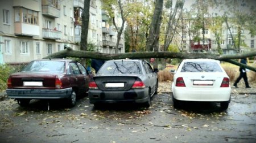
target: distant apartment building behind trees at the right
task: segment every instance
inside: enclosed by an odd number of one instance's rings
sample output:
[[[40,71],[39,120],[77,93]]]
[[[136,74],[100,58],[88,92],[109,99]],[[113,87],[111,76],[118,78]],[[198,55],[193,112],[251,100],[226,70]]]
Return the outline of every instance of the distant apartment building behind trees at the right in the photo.
[[[231,25],[231,24],[230,24]],[[232,35],[234,38],[237,38],[237,27],[233,26],[230,28]],[[226,28],[225,24],[222,25],[222,34],[220,40],[220,46],[223,51],[223,54],[237,54],[243,53],[245,51],[256,50],[256,36],[251,36],[250,32],[246,29],[242,29],[241,31],[241,45],[240,49],[236,49],[234,47],[234,41],[232,40],[231,34],[228,28]],[[183,32],[181,35],[183,37],[182,48],[185,51],[189,51],[191,53],[197,53],[201,51],[208,51],[210,53],[218,53],[217,50],[217,41],[214,33],[210,31],[210,29],[206,28],[204,31],[200,32],[200,41],[191,41],[189,40],[189,34],[187,32]],[[204,41],[203,41],[204,37]],[[193,39],[191,37],[190,39]]]

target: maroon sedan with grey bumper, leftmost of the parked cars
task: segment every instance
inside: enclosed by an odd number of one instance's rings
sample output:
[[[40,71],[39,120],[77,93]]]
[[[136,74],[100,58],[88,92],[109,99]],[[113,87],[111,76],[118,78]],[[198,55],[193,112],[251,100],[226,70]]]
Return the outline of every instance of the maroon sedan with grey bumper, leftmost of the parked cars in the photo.
[[[20,106],[31,99],[67,99],[75,106],[77,96],[85,96],[92,75],[81,63],[71,59],[33,60],[21,71],[10,75],[6,93]]]

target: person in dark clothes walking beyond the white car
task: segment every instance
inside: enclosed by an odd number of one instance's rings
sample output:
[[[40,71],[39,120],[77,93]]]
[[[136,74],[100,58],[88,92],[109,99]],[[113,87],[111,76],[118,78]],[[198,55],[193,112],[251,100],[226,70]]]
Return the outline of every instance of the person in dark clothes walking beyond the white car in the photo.
[[[242,64],[246,64],[246,63],[247,63],[246,58],[241,59],[241,63],[242,63]],[[249,83],[248,83],[248,78],[247,78],[247,74],[246,74],[246,68],[240,67],[240,68],[239,68],[239,71],[240,71],[240,75],[237,77],[237,80],[235,81],[234,86],[235,86],[236,88],[238,88],[237,84],[238,84],[239,81],[243,78],[243,80],[245,81],[245,87],[246,87],[246,88],[251,88],[251,87],[249,86]]]

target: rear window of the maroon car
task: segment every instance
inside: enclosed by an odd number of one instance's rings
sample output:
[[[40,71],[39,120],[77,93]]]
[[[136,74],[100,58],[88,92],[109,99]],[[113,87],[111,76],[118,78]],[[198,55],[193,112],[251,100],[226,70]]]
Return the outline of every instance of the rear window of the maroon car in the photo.
[[[64,73],[65,62],[62,61],[32,61],[22,72],[50,72],[50,73]]]

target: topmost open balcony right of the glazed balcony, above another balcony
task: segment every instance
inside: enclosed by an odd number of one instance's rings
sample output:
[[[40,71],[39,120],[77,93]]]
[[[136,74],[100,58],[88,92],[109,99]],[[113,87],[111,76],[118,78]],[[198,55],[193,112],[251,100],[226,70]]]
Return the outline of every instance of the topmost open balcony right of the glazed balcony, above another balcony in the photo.
[[[60,18],[60,9],[53,6],[42,5],[42,15],[50,18]]]

